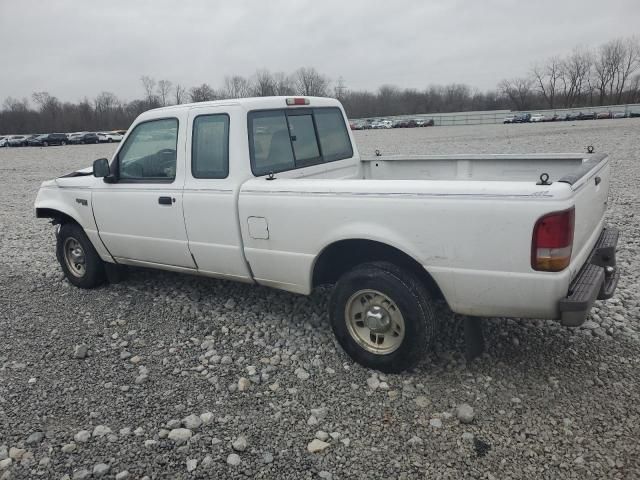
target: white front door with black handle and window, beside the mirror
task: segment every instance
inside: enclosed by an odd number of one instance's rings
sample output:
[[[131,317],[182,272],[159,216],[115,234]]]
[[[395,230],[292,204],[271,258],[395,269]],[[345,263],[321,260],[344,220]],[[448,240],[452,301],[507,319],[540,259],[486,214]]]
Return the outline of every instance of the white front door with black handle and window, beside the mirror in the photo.
[[[185,118],[143,121],[92,192],[100,238],[118,263],[195,269],[182,210]]]

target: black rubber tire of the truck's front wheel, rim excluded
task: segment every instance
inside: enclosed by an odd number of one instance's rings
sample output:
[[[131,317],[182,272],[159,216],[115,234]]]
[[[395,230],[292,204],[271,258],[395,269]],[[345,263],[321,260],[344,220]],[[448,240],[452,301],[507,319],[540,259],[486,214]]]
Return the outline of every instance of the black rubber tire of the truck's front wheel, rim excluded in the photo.
[[[78,274],[67,265],[65,256],[65,245],[67,240],[75,240],[82,247],[84,253],[84,272]],[[65,277],[70,283],[80,288],[95,288],[105,281],[104,263],[91,244],[91,241],[84,233],[84,230],[77,223],[65,223],[60,227],[56,245],[56,256],[62,267]]]

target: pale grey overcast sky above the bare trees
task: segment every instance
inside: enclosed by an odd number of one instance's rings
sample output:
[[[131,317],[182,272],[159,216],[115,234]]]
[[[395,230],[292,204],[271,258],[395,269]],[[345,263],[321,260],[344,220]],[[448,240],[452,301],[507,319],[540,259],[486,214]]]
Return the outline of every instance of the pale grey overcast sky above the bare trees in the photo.
[[[640,0],[0,0],[0,102],[143,96],[313,66],[349,89],[466,83],[640,32]]]

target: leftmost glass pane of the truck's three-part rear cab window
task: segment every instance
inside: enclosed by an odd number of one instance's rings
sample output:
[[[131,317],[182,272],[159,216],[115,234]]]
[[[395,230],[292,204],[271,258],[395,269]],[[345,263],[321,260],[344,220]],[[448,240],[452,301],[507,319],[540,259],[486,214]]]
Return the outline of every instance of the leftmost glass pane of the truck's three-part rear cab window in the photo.
[[[254,175],[295,168],[287,118],[282,110],[251,112],[249,125]]]

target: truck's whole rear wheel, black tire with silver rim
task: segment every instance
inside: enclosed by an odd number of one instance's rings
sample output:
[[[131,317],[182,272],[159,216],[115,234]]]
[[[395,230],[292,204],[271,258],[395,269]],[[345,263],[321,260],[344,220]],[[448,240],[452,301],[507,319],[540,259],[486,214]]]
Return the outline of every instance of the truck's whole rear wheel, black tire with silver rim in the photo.
[[[359,265],[335,285],[331,327],[361,365],[382,372],[415,367],[436,331],[429,292],[411,272],[388,262]]]

